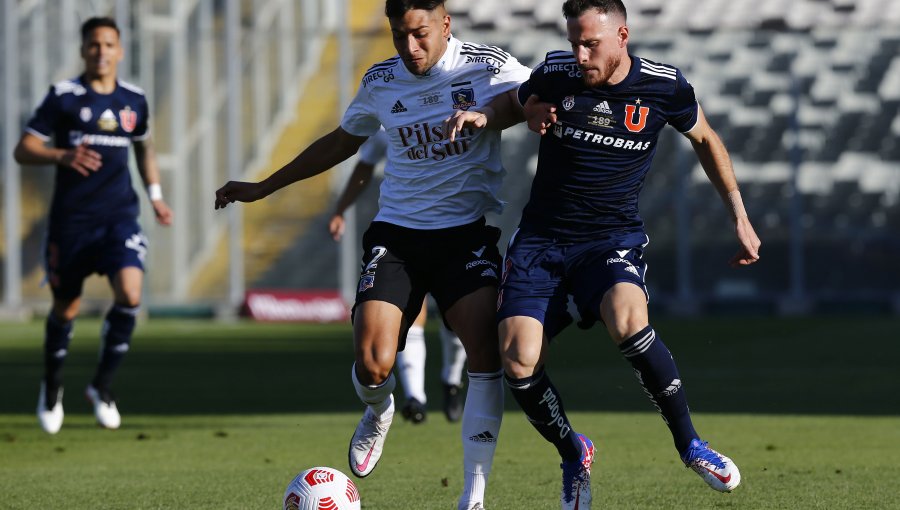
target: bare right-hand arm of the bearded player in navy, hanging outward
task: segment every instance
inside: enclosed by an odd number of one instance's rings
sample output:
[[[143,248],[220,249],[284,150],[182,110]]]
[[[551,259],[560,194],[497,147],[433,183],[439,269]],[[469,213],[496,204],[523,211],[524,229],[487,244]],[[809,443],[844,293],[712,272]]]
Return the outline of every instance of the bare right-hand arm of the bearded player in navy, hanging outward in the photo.
[[[722,139],[712,129],[703,115],[703,110],[697,106],[697,124],[693,129],[685,133],[685,136],[694,146],[694,152],[700,160],[700,165],[709,177],[710,182],[719,192],[719,196],[725,202],[725,206],[731,213],[734,221],[740,248],[731,258],[732,266],[747,266],[759,260],[759,246],[762,244],[741,199],[738,190],[737,179],[734,176],[734,168],[731,165],[731,157]]]

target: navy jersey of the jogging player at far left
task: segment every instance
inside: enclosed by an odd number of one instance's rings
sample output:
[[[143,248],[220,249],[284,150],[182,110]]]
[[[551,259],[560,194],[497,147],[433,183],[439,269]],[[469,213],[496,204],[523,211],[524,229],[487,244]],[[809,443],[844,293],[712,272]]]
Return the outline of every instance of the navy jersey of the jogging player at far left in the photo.
[[[123,81],[111,94],[99,94],[81,78],[63,81],[50,91],[28,122],[26,131],[58,148],[86,143],[102,166],[87,177],[58,166],[50,223],[110,222],[138,215],[138,197],[128,170],[133,140],[149,136],[149,108],[144,92]]]

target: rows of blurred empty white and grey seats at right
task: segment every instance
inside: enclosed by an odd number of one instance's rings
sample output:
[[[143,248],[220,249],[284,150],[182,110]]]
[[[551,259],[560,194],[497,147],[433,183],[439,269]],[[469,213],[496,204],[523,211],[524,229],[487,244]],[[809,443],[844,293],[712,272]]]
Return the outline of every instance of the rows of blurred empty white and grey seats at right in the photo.
[[[744,285],[723,260],[710,255],[727,260],[733,254],[731,227],[689,145],[677,136],[660,140],[641,199],[653,240],[648,257],[671,266],[677,238],[687,234],[677,230],[672,213],[686,207],[691,277],[701,296],[727,294],[728,288],[749,288],[757,297],[784,293],[797,233],[804,246],[805,286],[813,295],[843,288],[848,295],[896,296],[900,274],[889,261],[900,259],[900,2],[632,0],[626,5],[632,53],[678,66],[696,88],[731,152],[764,241],[763,254],[773,263],[747,273],[753,282]],[[448,7],[457,36],[498,45],[527,65],[540,62],[550,49],[568,48],[557,2],[455,1]],[[511,174],[522,166],[534,171],[535,144],[523,143],[525,136],[515,130],[504,134]],[[673,189],[681,185],[682,164],[690,169],[679,199]],[[510,202],[527,193],[527,183],[519,179],[507,179],[507,186]],[[504,231],[518,221],[519,208],[510,208],[514,214],[499,220]],[[851,259],[879,276],[836,274],[835,268]],[[674,278],[659,282],[662,294],[675,293]]]

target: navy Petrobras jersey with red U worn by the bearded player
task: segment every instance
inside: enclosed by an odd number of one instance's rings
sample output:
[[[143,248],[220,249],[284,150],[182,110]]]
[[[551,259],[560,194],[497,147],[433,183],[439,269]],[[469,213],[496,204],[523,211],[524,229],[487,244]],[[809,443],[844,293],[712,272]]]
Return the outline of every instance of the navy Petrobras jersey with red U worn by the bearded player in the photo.
[[[698,119],[694,89],[678,69],[630,56],[628,76],[589,88],[570,51],[551,51],[519,89],[556,105],[541,138],[521,226],[561,240],[643,233],[638,195],[666,124]]]

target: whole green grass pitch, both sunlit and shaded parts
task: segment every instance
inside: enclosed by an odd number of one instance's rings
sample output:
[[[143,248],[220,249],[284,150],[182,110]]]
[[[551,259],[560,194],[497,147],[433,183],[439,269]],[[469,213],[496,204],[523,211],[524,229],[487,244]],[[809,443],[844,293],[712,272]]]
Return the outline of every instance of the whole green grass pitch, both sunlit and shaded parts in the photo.
[[[743,483],[719,494],[681,467],[609,340],[572,329],[549,370],[573,424],[598,445],[594,508],[900,508],[896,319],[655,325],[697,428],[735,459]],[[141,324],[116,383],[123,426],[106,431],[80,396],[99,325],[80,321],[56,436],[33,414],[42,325],[0,328],[0,509],[279,508],[300,470],[347,472],[361,413],[347,326]],[[378,469],[358,480],[365,509],[455,508],[459,425],[440,414],[434,331],[428,341],[429,419],[395,422]],[[488,509],[558,508],[558,463],[508,398]]]

